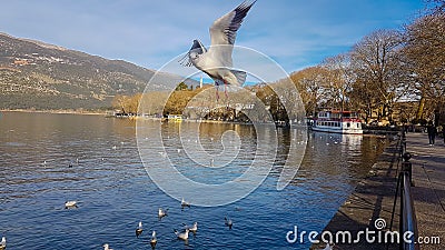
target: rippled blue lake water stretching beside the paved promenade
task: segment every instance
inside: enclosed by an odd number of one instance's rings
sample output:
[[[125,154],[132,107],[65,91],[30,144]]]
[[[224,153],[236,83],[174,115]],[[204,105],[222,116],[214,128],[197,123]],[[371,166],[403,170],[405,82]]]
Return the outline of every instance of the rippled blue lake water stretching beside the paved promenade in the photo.
[[[181,126],[186,129],[196,126],[187,123]],[[177,126],[162,124],[167,151],[181,147],[181,141],[175,138]],[[206,149],[218,151],[221,147],[218,134],[233,130],[234,126],[200,124],[201,131],[206,131],[200,133],[200,140],[215,141],[206,144]],[[190,178],[218,183],[230,179],[234,172],[244,171],[239,162],[255,154],[249,151],[256,148],[255,128],[236,127],[243,151],[237,157],[240,160],[228,166],[228,176],[224,171],[220,174],[204,171]],[[288,130],[277,132],[277,160],[258,189],[227,206],[192,206],[181,210],[180,201],[164,193],[148,177],[138,153],[135,121],[101,116],[1,112],[0,237],[7,237],[10,250],[103,249],[103,243],[115,250],[150,249],[151,230],[158,236],[156,249],[308,249],[307,241],[289,244],[286,233],[294,226],[299,230],[322,231],[382,153],[387,140],[310,132],[297,176],[277,191],[290,140]],[[175,154],[171,158],[180,162],[184,156],[177,153],[178,159]],[[194,169],[181,171],[187,174]],[[199,196],[199,190],[188,199],[195,196]],[[65,209],[67,200],[77,200],[79,208]],[[168,217],[162,220],[157,216],[159,207],[169,208]],[[231,230],[225,227],[225,217],[233,219]],[[137,239],[135,229],[139,221],[145,231]],[[177,240],[174,229],[195,221],[196,236],[190,234],[187,244]]]

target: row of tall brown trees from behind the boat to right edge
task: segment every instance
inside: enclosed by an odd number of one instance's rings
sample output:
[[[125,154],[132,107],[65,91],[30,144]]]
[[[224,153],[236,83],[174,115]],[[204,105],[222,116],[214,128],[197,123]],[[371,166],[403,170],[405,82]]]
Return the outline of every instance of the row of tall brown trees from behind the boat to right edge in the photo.
[[[429,2],[400,30],[376,30],[348,52],[293,73],[307,114],[332,107],[392,122],[398,109],[399,121],[417,122],[444,113],[445,0]]]

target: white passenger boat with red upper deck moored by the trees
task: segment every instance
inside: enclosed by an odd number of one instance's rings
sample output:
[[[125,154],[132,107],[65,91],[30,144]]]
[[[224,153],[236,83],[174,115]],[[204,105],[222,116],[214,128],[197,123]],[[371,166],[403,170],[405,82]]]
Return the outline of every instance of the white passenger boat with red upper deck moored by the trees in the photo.
[[[362,134],[362,121],[353,111],[329,110],[318,112],[312,126],[314,131]]]

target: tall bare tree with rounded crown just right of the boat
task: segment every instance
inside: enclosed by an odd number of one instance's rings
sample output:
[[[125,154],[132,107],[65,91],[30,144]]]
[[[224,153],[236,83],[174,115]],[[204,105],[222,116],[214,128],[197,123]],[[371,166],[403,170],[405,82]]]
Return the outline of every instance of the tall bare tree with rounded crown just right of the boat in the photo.
[[[368,108],[377,106],[377,119],[392,121],[394,103],[405,94],[400,78],[400,34],[394,30],[377,30],[366,36],[352,50],[352,66],[357,80],[355,88],[366,90]],[[362,84],[362,86],[359,86]],[[357,93],[357,91],[355,91]],[[362,94],[362,93],[359,93]],[[359,101],[356,98],[356,101]],[[367,113],[372,111],[367,110]]]

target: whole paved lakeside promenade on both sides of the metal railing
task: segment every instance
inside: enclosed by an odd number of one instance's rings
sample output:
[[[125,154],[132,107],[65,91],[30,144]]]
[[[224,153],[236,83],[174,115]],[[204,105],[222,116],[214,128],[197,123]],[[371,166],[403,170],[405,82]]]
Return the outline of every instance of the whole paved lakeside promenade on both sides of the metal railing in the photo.
[[[442,138],[437,138],[435,146],[428,146],[425,133],[407,134],[407,151],[413,154],[412,188],[414,207],[421,237],[439,237],[439,244],[422,244],[422,250],[445,249],[445,146]],[[353,240],[359,231],[373,230],[376,234],[375,221],[383,219],[386,222],[382,233],[389,230],[394,196],[397,186],[398,162],[397,143],[392,143],[373,166],[368,177],[362,180],[356,190],[338,209],[325,231],[335,236],[338,231],[350,231]],[[399,200],[399,199],[398,199]],[[396,207],[392,231],[398,230],[398,207]],[[380,221],[382,222],[382,221]],[[379,227],[380,224],[377,224]],[[342,238],[340,238],[342,239]],[[382,238],[384,239],[384,238]],[[429,240],[437,240],[428,238]],[[334,249],[339,250],[392,250],[398,244],[367,243],[362,234],[358,243],[338,243]],[[425,238],[427,240],[427,238]],[[314,244],[310,249],[323,249],[324,244]]]

